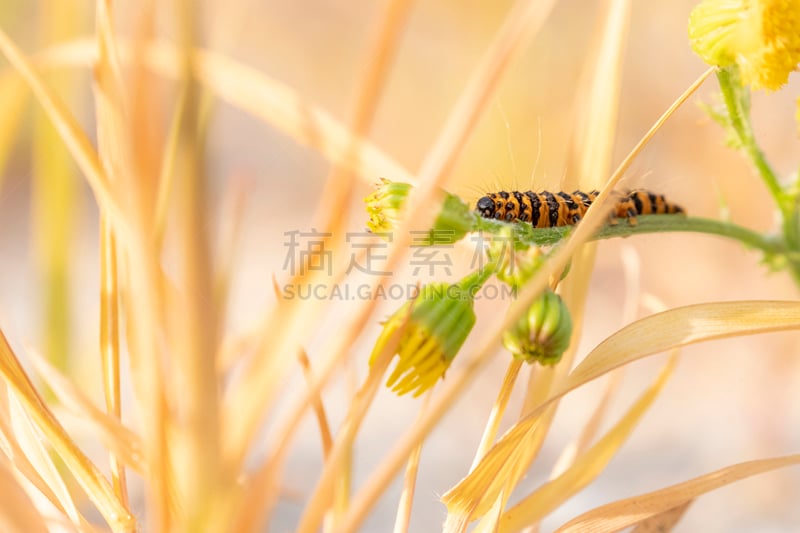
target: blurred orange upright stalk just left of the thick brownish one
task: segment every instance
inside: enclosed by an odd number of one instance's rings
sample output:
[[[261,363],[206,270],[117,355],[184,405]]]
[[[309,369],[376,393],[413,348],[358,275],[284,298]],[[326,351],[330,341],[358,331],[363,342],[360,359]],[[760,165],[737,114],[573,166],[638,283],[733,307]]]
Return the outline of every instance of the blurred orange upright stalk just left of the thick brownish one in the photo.
[[[117,140],[119,156],[118,191],[129,200],[131,225],[135,234],[124,243],[123,308],[126,316],[126,338],[129,349],[131,380],[135,391],[138,412],[142,413],[142,441],[147,458],[148,529],[167,531],[175,527],[170,510],[175,502],[175,482],[170,463],[167,432],[172,425],[165,393],[164,342],[166,335],[166,291],[168,284],[161,272],[160,250],[155,248],[154,187],[153,177],[158,176],[160,148],[157,123],[159,103],[152,79],[141,60],[142,43],[152,31],[153,3],[144,2],[139,7],[140,17],[134,37],[132,52],[127,56],[131,64],[129,100],[123,100],[128,111],[119,126]],[[120,50],[121,52],[121,50]],[[122,57],[126,57],[120,53]],[[122,91],[117,90],[122,96]],[[117,112],[125,110],[118,106]],[[102,115],[98,113],[98,123]],[[102,140],[102,137],[99,139]],[[102,146],[102,145],[101,145]],[[133,157],[135,154],[135,157]]]

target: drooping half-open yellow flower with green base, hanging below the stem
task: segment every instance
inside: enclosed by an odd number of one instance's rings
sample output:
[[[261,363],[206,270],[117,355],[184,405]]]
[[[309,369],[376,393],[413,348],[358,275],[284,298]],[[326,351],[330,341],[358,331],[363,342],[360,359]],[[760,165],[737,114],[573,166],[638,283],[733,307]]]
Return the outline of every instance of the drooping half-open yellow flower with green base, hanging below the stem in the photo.
[[[470,276],[459,284],[426,285],[415,300],[404,304],[386,321],[375,342],[370,364],[394,333],[405,327],[397,346],[397,366],[386,382],[387,387],[397,394],[413,392],[416,397],[444,377],[475,325],[473,297],[485,276],[481,279]]]

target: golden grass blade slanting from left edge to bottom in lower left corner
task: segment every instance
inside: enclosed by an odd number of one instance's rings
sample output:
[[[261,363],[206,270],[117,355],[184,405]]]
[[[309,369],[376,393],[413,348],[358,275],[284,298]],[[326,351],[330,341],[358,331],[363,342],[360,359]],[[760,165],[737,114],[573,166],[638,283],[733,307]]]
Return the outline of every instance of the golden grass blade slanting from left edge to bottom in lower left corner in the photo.
[[[64,459],[64,463],[75,475],[109,526],[115,531],[135,529],[136,522],[133,516],[116,497],[108,480],[80,451],[47,408],[2,332],[0,332],[0,373],[9,388],[17,395],[26,413],[36,422],[56,453]]]

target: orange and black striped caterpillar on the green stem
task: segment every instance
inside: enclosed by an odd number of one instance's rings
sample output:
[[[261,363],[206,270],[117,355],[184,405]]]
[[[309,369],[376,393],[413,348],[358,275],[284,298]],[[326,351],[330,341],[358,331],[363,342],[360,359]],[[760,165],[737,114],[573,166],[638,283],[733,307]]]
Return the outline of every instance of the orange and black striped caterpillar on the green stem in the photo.
[[[583,218],[584,213],[598,194],[597,191],[575,191],[572,194],[548,191],[539,193],[501,191],[489,193],[479,199],[476,211],[484,218],[494,218],[506,222],[519,220],[530,223],[534,228],[572,226]],[[636,189],[619,195],[617,204],[611,212],[611,224],[616,224],[617,219],[626,218],[629,224],[635,226],[637,215],[683,212],[681,206],[668,202],[663,194]]]

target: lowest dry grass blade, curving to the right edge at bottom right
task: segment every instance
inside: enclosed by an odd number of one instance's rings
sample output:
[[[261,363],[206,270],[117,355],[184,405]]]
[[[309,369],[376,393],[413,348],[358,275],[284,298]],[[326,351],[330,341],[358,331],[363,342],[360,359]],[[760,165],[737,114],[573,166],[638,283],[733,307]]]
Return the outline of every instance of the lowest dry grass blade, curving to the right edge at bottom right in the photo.
[[[570,520],[561,526],[557,533],[619,531],[735,481],[798,464],[800,464],[800,455],[788,455],[721,468],[671,487],[603,505]]]

